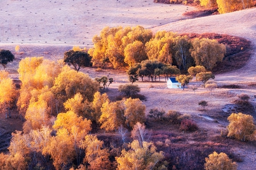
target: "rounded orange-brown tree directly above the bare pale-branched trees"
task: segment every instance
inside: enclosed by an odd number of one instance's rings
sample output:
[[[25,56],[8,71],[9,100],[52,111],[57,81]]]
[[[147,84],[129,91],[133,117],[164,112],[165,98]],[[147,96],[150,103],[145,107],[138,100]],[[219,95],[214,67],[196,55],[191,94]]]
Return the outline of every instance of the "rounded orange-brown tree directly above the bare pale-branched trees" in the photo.
[[[126,125],[129,128],[133,128],[137,122],[141,124],[145,121],[145,110],[146,105],[142,104],[142,101],[139,99],[126,99],[124,102],[125,107],[125,118]]]

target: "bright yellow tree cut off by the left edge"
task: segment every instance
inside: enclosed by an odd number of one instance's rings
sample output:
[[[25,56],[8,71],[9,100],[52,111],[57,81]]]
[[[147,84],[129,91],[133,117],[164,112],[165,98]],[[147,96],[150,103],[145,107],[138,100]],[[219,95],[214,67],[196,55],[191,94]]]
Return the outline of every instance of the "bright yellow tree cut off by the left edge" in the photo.
[[[4,75],[2,74],[2,76]],[[10,108],[15,105],[15,100],[18,97],[17,93],[18,90],[16,90],[11,78],[0,79],[0,109],[5,113],[5,118],[7,118],[7,112],[9,112],[9,117],[11,117]]]

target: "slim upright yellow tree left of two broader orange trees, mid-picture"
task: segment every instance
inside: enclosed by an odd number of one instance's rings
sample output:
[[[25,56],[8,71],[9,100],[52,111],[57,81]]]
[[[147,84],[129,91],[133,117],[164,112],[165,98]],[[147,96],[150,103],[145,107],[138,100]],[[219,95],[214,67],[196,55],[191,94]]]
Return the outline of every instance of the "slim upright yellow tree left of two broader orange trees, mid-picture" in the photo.
[[[94,121],[97,122],[97,124],[99,124],[99,120],[101,117],[101,108],[102,105],[108,100],[108,95],[106,93],[104,94],[100,94],[100,92],[96,92],[93,95],[93,101],[92,101],[92,108],[93,108],[93,112],[92,112],[92,118]]]

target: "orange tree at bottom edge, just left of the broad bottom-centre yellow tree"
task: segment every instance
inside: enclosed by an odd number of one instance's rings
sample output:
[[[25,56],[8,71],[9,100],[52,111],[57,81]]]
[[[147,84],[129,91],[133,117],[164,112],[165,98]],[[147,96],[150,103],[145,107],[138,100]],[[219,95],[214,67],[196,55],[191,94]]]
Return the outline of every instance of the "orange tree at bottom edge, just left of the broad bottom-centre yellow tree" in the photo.
[[[81,142],[81,148],[85,150],[84,164],[89,164],[88,169],[110,169],[109,151],[102,148],[103,141],[97,139],[96,136],[86,135],[84,141]]]

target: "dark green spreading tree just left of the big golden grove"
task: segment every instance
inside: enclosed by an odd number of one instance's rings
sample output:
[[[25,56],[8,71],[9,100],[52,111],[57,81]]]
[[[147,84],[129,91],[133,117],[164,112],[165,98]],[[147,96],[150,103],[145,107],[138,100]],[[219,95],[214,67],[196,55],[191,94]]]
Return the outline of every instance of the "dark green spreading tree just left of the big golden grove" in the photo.
[[[72,65],[76,71],[79,71],[81,67],[90,67],[92,57],[86,52],[86,50],[68,50],[64,53],[64,62]]]

